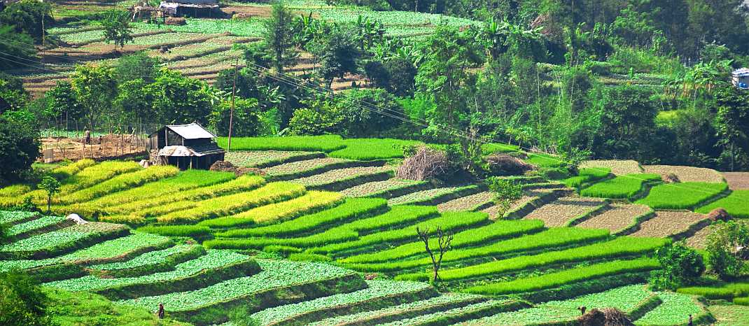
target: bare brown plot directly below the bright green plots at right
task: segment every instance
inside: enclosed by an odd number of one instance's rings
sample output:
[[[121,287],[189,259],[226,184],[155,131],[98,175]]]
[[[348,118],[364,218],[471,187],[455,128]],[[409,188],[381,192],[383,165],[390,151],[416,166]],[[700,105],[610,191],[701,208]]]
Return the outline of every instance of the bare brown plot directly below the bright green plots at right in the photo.
[[[641,223],[640,230],[635,231],[631,236],[673,236],[696,227],[700,222],[704,223],[706,219],[705,215],[688,211],[656,211],[655,217]],[[702,227],[705,226],[706,224],[702,225]]]

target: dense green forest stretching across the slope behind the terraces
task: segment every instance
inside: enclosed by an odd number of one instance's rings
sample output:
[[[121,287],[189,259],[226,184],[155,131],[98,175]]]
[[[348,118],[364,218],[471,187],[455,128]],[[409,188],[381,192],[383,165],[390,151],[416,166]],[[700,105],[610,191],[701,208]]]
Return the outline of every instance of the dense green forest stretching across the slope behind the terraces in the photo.
[[[3,75],[2,119],[27,129],[63,116],[92,129],[136,117],[197,120],[226,135],[236,79],[237,136],[461,143],[468,159],[479,148],[472,143],[505,141],[566,158],[749,168],[749,94],[730,83],[731,71],[749,62],[742,1],[333,3],[473,23],[388,37],[376,19],[328,22],[277,3],[262,21],[263,40],[243,45],[245,67],[222,71],[212,86],[136,53],[82,64],[70,82],[33,100],[18,79]],[[45,5],[25,0],[0,12],[4,68],[37,60],[19,44],[43,42],[46,32],[34,26],[49,19]],[[98,16],[112,29],[115,49],[127,43],[127,19]],[[312,55],[312,72],[292,76],[286,70],[303,53]],[[350,74],[366,82],[327,90]]]

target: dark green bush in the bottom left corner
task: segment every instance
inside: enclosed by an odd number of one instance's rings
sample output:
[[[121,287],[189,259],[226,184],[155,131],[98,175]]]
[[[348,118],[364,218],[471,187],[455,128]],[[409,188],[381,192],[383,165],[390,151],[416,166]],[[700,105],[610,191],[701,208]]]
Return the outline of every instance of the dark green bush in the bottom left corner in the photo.
[[[28,275],[0,274],[0,324],[50,325],[48,304],[49,298]]]

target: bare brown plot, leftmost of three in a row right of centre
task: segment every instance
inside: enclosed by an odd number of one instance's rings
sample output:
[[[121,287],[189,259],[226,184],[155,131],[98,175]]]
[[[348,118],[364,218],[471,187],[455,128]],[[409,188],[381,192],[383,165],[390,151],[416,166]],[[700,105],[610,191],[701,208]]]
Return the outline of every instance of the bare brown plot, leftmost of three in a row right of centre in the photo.
[[[570,221],[583,215],[592,214],[596,209],[601,209],[601,206],[606,205],[605,200],[597,198],[562,197],[553,203],[548,203],[533,210],[524,219],[541,220],[548,227],[562,227]]]

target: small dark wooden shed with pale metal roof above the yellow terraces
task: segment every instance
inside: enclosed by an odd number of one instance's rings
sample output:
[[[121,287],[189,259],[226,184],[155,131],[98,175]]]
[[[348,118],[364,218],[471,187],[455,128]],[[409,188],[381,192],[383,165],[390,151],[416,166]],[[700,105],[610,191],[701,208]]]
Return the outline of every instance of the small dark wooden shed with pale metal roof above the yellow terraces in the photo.
[[[148,150],[154,162],[169,164],[181,170],[207,170],[224,160],[225,151],[216,144],[216,135],[199,123],[163,126],[148,136]]]

